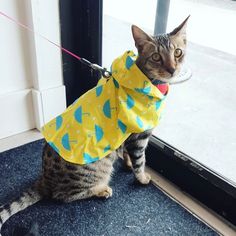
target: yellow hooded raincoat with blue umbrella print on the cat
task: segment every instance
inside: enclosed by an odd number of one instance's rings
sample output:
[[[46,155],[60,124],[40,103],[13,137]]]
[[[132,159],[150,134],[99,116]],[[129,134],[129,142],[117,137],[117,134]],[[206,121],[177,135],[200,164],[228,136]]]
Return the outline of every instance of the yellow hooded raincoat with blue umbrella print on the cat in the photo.
[[[116,150],[132,133],[158,125],[165,96],[125,52],[112,64],[112,76],[83,94],[42,128],[62,158],[76,164],[97,161]]]

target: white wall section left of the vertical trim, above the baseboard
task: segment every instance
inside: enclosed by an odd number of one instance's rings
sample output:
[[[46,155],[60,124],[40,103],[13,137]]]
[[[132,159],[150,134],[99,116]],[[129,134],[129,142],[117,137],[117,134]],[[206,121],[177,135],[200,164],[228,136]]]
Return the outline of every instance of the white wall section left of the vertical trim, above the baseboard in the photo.
[[[1,11],[22,19],[20,12],[24,9],[14,0],[1,0]],[[27,34],[15,24],[0,17],[0,95],[32,87],[32,71],[27,62],[30,54],[27,49]]]

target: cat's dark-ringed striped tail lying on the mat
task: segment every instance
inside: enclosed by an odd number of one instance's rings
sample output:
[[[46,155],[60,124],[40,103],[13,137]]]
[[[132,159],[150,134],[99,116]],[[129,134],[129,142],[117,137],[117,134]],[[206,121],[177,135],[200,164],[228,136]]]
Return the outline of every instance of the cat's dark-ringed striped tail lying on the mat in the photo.
[[[19,211],[24,210],[28,206],[35,204],[40,201],[42,196],[37,190],[36,185],[32,186],[25,192],[21,194],[20,197],[15,199],[10,204],[6,204],[0,207],[0,236],[1,236],[1,227],[12,215],[16,214]]]

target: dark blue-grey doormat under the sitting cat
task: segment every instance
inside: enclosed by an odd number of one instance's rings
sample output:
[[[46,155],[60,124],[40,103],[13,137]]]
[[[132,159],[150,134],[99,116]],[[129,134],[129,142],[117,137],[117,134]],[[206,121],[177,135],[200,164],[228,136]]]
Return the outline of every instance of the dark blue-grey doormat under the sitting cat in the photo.
[[[0,205],[19,196],[40,173],[43,141],[0,153]],[[152,184],[140,186],[132,173],[115,164],[107,200],[68,204],[41,201],[11,217],[2,236],[24,235],[33,223],[41,236],[217,235]]]

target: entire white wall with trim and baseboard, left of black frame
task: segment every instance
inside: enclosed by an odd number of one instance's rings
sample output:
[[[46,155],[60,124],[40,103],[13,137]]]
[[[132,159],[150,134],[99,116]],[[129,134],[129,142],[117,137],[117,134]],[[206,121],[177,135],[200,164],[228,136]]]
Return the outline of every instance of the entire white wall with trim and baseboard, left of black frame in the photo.
[[[58,0],[1,0],[0,10],[60,43]],[[65,107],[61,52],[0,16],[0,138],[38,129]]]

